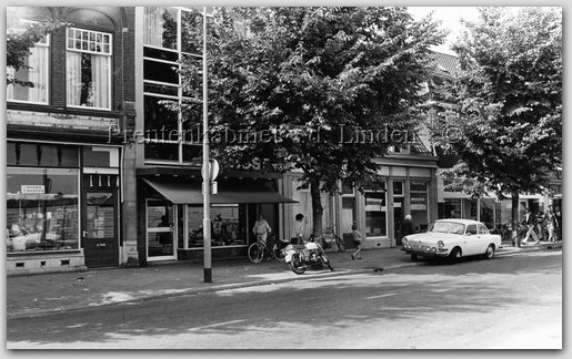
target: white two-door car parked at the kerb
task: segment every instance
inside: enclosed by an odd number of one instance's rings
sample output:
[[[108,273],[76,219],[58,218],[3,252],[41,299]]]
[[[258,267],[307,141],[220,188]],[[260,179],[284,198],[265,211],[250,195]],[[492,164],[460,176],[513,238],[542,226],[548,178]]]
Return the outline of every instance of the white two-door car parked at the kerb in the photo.
[[[422,256],[455,261],[468,256],[490,259],[500,246],[501,236],[491,234],[483,223],[451,218],[433,222],[425,233],[405,236],[401,250],[411,255],[411,260]]]

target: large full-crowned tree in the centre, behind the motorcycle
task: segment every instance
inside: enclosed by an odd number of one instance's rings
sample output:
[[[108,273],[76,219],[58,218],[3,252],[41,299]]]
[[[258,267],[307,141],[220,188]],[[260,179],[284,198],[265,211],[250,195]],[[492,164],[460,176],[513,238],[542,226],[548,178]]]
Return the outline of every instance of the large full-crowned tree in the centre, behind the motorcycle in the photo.
[[[209,24],[211,145],[227,166],[262,161],[301,171],[313,233],[320,193],[375,188],[388,132],[415,125],[429,48],[443,33],[405,8],[221,8]],[[191,129],[200,123],[200,62],[187,61]],[[232,134],[232,137],[229,136]]]

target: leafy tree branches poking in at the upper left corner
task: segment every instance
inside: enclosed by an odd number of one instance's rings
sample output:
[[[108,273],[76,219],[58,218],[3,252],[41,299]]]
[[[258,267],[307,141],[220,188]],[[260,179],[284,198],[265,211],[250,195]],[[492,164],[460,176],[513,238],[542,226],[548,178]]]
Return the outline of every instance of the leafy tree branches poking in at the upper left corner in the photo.
[[[7,85],[33,88],[32,82],[20,81],[14,74],[20,69],[30,69],[27,65],[27,59],[36,43],[41,41],[46,34],[67,23],[59,19],[40,19],[34,22],[22,21],[18,13],[19,10],[24,10],[24,8],[7,8],[6,64],[8,69],[13,71],[7,71],[6,80]]]

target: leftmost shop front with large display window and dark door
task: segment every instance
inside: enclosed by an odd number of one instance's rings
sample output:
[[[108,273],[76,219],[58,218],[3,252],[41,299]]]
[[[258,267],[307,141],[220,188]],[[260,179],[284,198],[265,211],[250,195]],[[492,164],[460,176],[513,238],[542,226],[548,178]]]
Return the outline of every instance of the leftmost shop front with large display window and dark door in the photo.
[[[8,141],[8,274],[119,265],[119,153]]]

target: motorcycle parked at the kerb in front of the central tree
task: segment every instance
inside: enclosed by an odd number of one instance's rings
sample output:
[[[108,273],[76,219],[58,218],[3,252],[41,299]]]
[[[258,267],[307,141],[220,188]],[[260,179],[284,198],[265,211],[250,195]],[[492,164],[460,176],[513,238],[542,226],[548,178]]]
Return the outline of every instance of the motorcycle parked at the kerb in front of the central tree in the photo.
[[[325,252],[315,243],[313,238],[303,245],[288,245],[284,248],[285,263],[292,269],[293,273],[302,275],[308,268],[321,269],[325,265],[330,271],[333,271],[330,258],[325,255]]]

